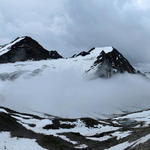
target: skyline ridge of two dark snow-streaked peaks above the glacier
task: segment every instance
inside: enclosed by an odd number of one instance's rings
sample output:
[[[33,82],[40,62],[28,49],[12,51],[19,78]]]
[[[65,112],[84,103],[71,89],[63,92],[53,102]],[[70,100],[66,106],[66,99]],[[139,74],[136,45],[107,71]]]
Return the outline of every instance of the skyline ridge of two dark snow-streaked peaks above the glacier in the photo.
[[[39,61],[63,58],[57,51],[44,49],[37,41],[28,36],[18,37],[14,41],[0,48],[0,63],[14,63],[18,61]],[[64,58],[68,59],[68,58]],[[88,51],[81,51],[69,60],[93,60],[86,72],[94,71],[98,77],[109,78],[116,73],[140,73],[114,47],[93,47]],[[81,64],[83,65],[83,64]],[[95,73],[94,73],[95,74]]]

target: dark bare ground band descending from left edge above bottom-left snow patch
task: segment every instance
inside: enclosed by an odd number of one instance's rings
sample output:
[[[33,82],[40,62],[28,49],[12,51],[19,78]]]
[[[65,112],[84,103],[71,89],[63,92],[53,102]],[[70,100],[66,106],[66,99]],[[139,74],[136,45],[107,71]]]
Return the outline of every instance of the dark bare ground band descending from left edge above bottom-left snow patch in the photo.
[[[13,111],[12,111],[13,112]],[[10,132],[11,137],[36,139],[36,142],[48,150],[74,150],[73,145],[52,135],[38,134],[26,129],[10,114],[0,112],[0,132]],[[32,147],[31,147],[32,148]]]

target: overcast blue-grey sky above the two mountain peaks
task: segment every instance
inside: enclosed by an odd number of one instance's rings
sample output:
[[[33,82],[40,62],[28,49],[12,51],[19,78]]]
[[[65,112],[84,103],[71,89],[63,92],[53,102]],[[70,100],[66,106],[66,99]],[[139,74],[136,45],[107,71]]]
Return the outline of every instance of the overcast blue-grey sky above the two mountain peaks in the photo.
[[[150,61],[149,0],[0,0],[0,43],[28,35],[64,56],[114,46]]]

